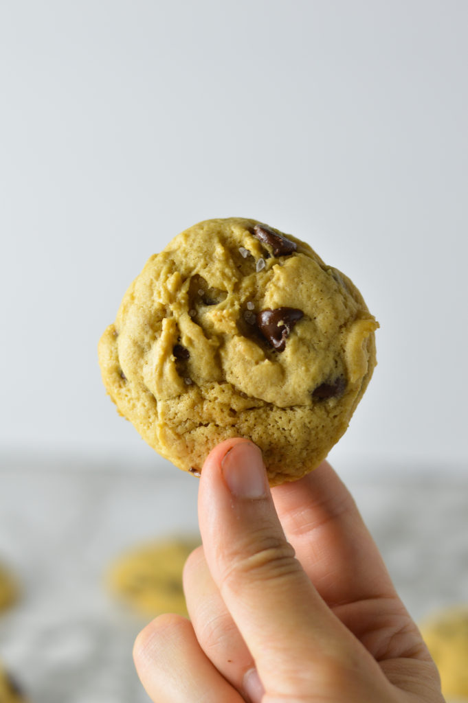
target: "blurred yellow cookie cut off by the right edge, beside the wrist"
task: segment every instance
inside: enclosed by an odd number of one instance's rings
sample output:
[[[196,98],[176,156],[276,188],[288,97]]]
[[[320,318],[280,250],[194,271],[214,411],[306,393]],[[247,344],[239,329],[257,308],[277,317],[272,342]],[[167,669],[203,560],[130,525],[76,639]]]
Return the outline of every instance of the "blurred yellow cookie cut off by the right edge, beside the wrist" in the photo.
[[[468,605],[441,610],[421,631],[441,675],[443,695],[468,701]]]

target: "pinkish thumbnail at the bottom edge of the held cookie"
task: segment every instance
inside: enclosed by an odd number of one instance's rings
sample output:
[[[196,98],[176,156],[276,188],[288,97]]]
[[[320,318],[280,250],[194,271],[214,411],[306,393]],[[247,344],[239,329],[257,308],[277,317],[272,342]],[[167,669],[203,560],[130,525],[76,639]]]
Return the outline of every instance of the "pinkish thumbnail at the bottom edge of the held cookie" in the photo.
[[[262,453],[250,441],[234,444],[221,462],[229,491],[239,498],[263,498],[267,495],[267,472]]]

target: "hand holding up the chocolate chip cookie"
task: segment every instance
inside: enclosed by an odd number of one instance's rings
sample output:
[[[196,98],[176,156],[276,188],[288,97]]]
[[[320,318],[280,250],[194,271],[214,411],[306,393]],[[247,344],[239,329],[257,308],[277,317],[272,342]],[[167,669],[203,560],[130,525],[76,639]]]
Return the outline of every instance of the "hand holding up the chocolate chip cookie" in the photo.
[[[218,445],[198,498],[191,621],[163,615],[134,659],[156,703],[443,703],[436,666],[353,498],[326,463],[270,491],[260,450]]]

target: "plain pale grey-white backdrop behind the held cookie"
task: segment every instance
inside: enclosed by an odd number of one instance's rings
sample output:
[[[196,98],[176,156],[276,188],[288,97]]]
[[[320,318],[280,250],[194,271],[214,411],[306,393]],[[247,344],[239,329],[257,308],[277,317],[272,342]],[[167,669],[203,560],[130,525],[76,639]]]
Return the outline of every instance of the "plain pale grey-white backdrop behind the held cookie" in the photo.
[[[3,0],[0,452],[158,462],[96,344],[146,259],[254,217],[381,323],[336,465],[464,470],[468,3]]]

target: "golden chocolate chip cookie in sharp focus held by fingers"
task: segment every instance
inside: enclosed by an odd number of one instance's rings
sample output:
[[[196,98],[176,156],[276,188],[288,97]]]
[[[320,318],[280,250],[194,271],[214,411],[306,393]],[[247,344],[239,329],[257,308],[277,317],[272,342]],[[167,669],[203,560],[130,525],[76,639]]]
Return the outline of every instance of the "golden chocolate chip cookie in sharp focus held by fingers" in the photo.
[[[270,484],[303,476],[348,427],[376,364],[355,285],[253,219],[201,222],[154,254],[99,342],[108,394],[162,456],[198,473],[229,437]]]

